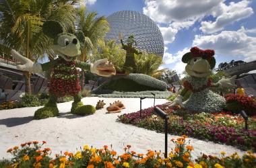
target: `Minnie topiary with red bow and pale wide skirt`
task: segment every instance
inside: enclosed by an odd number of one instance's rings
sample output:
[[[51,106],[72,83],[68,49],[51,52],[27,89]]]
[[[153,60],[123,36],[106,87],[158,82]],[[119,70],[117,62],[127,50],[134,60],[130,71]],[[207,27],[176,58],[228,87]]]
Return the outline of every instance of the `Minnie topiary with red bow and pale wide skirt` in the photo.
[[[216,64],[214,50],[201,50],[193,47],[190,52],[183,55],[182,61],[187,63],[185,71],[189,77],[183,83],[185,89],[172,101],[170,106],[179,104],[194,112],[220,112],[224,108],[226,100],[211,91],[210,87],[236,87],[234,85],[236,76],[230,79],[222,77],[217,83],[212,83],[209,77]],[[187,91],[192,93],[189,99],[183,102],[183,96]]]

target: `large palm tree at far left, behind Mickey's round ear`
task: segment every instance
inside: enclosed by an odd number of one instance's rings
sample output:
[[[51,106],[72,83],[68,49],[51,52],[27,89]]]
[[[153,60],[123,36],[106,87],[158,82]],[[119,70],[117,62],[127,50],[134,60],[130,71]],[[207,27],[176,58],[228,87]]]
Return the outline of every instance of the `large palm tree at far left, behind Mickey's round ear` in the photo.
[[[18,50],[36,61],[44,53],[53,57],[51,39],[42,33],[45,20],[58,20],[63,28],[74,29],[75,9],[69,0],[5,0],[0,1],[0,52],[9,54],[6,48]],[[26,93],[31,94],[30,72],[24,72]]]

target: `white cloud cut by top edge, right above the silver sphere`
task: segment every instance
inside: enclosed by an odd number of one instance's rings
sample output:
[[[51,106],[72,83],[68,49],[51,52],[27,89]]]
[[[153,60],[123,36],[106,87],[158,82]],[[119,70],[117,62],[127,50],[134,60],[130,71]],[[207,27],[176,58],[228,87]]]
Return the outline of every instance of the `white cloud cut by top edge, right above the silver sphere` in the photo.
[[[143,13],[156,22],[195,21],[207,15],[224,0],[145,0]]]

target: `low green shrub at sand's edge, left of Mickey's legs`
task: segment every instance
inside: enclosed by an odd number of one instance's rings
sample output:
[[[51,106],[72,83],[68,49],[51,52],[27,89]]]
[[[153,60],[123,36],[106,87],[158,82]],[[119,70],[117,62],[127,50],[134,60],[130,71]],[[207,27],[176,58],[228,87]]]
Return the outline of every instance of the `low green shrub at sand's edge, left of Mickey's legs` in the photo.
[[[42,106],[43,103],[36,97],[36,95],[25,94],[20,98],[18,102],[18,108],[36,107]]]

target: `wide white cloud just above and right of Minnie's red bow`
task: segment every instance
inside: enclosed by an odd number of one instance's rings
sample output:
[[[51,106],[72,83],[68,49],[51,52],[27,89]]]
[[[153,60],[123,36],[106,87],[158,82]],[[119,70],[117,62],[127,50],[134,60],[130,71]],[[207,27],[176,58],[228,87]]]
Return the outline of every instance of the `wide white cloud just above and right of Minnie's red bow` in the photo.
[[[256,60],[256,37],[248,36],[241,30],[223,31],[220,34],[199,36],[193,40],[193,46],[212,48],[222,56],[244,56],[245,61]]]

